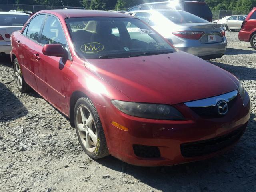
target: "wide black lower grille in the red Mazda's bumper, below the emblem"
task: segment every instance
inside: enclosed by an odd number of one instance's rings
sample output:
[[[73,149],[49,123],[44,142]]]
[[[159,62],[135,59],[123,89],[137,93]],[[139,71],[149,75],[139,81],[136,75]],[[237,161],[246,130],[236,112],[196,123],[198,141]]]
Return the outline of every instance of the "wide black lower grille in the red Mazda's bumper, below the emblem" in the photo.
[[[243,135],[245,128],[246,126],[243,126],[229,134],[209,140],[181,144],[181,154],[184,157],[196,157],[222,150],[237,142]]]

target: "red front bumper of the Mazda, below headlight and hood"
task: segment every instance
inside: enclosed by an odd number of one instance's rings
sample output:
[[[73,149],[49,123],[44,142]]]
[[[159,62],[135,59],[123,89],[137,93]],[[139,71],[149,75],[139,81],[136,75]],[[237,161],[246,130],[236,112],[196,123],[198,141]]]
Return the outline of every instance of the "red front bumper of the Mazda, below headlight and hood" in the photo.
[[[169,166],[197,160],[203,160],[219,154],[234,145],[242,136],[250,118],[250,101],[248,94],[246,106],[242,105],[240,95],[228,114],[220,118],[201,118],[185,104],[176,107],[186,120],[150,120],[126,115],[114,106],[96,105],[100,114],[109,152],[112,156],[138,166]],[[123,131],[111,124],[118,122],[129,130]],[[184,156],[181,147],[184,144],[224,137],[236,130],[242,130],[238,139],[217,151]],[[159,157],[139,157],[134,151],[136,146],[154,146],[159,149]]]

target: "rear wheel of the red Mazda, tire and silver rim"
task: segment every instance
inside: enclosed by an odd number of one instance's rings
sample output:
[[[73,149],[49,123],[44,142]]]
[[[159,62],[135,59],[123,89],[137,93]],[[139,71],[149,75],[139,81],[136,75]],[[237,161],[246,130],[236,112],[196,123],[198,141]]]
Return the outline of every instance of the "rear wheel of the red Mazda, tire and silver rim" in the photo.
[[[16,80],[16,84],[17,84],[19,91],[22,93],[30,92],[31,88],[25,82],[25,80],[22,76],[22,71],[21,71],[20,64],[19,64],[17,58],[14,59],[13,66],[14,66],[13,69],[14,69],[15,80]]]

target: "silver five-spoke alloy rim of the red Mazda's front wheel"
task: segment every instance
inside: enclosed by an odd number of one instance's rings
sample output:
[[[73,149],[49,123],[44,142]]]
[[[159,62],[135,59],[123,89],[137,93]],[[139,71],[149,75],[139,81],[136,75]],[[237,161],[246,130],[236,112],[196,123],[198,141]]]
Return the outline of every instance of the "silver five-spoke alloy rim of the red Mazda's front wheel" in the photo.
[[[82,145],[89,152],[93,152],[97,145],[97,130],[95,128],[94,118],[86,106],[81,105],[78,108],[76,121]]]

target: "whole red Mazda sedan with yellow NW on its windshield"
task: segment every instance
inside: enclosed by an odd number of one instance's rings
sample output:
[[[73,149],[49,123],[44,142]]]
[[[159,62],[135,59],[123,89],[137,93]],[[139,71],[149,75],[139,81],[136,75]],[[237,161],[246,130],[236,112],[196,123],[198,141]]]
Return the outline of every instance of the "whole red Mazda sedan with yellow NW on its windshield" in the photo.
[[[67,116],[91,158],[191,162],[225,151],[246,129],[250,99],[235,76],[132,16],[44,10],[11,40],[18,89]]]

